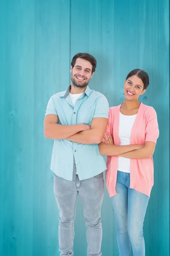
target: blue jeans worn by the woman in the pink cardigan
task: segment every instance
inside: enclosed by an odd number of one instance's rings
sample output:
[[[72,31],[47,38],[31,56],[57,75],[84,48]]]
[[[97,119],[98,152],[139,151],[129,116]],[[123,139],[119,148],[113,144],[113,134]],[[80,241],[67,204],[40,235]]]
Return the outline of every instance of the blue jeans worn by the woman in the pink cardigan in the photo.
[[[143,235],[144,216],[149,197],[130,189],[130,173],[120,172],[116,181],[117,194],[111,197],[116,219],[117,241],[120,256],[145,256]]]

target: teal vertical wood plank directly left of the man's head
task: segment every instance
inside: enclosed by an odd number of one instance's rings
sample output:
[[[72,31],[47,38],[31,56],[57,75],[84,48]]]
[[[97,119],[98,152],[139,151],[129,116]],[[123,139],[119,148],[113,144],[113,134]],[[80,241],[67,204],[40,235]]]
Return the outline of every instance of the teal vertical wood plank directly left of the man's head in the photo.
[[[44,137],[43,119],[49,98],[69,86],[69,11],[67,0],[37,0],[35,5],[33,255],[59,255],[59,213],[50,171],[53,140]]]

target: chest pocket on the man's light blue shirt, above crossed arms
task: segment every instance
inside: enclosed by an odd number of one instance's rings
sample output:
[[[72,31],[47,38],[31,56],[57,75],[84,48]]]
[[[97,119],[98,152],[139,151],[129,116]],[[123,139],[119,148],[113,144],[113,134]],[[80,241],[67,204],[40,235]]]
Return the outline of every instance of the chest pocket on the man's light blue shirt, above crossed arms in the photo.
[[[84,108],[78,111],[78,124],[86,124],[91,125],[92,119],[94,116],[94,109],[93,108]]]

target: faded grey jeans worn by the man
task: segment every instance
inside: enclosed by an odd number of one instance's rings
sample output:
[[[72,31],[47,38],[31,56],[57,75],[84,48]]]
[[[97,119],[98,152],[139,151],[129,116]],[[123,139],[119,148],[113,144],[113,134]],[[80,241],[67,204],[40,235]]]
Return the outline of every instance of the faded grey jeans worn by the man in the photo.
[[[59,250],[61,256],[73,256],[74,221],[78,194],[83,204],[87,226],[87,255],[101,256],[103,173],[87,180],[79,180],[76,175],[75,181],[64,180],[55,175],[54,193],[60,213]]]

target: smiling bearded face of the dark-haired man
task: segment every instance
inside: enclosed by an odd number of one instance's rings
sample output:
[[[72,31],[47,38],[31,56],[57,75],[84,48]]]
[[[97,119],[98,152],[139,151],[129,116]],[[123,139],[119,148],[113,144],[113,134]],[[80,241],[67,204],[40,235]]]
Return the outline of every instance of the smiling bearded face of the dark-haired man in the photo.
[[[77,58],[75,66],[70,68],[72,83],[79,88],[86,87],[92,73],[92,64],[83,58]]]

